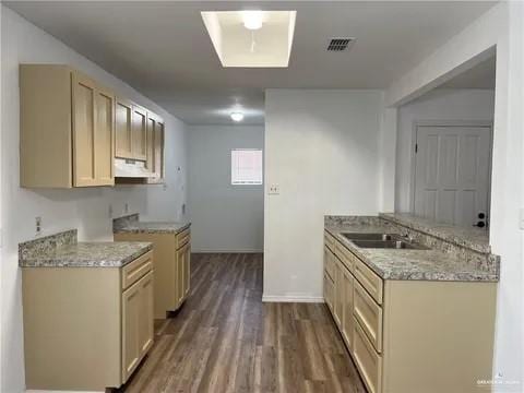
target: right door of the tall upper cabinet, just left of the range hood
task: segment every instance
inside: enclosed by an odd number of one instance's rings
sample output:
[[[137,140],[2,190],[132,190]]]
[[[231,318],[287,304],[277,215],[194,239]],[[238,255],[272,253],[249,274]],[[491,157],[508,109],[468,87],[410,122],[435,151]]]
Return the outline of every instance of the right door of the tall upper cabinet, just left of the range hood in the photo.
[[[95,94],[95,176],[98,186],[115,184],[115,96],[102,87]]]

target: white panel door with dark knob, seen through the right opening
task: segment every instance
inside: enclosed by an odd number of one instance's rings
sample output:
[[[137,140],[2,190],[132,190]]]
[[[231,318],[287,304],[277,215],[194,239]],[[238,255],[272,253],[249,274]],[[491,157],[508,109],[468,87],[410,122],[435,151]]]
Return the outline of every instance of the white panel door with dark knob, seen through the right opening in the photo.
[[[491,129],[417,127],[415,214],[472,227],[488,214]]]

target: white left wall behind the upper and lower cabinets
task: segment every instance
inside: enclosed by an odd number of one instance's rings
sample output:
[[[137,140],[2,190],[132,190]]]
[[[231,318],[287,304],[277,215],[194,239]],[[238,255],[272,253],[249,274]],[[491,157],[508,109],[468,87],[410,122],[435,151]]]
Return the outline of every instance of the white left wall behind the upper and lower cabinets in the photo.
[[[41,216],[44,235],[79,228],[81,240],[111,240],[111,218],[131,212],[150,218],[181,219],[184,203],[184,124],[168,115],[129,85],[108,74],[50,35],[2,7],[2,392],[24,390],[21,274],[17,243],[35,236],[35,216]],[[19,187],[19,63],[49,62],[71,64],[116,92],[152,108],[166,120],[167,189],[153,187],[92,188],[79,190],[25,190]],[[176,170],[177,167],[180,171]]]

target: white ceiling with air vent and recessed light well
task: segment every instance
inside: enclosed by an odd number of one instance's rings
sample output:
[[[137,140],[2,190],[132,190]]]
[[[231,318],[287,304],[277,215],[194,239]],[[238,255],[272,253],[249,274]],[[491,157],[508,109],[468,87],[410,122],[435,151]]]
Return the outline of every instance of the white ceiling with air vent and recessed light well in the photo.
[[[493,2],[11,1],[11,9],[188,123],[262,123],[264,88],[385,88]],[[287,69],[222,68],[200,11],[297,10]],[[330,38],[356,37],[347,52]]]

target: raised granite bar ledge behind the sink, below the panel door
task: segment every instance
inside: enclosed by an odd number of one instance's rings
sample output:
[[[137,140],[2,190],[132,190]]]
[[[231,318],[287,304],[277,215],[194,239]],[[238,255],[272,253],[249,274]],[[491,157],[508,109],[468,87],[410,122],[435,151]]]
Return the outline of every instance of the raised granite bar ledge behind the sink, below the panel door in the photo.
[[[434,223],[407,213],[381,213],[381,218],[401,224],[408,228],[434,236],[439,239],[467,247],[478,252],[491,252],[486,228],[461,228],[453,225]]]

